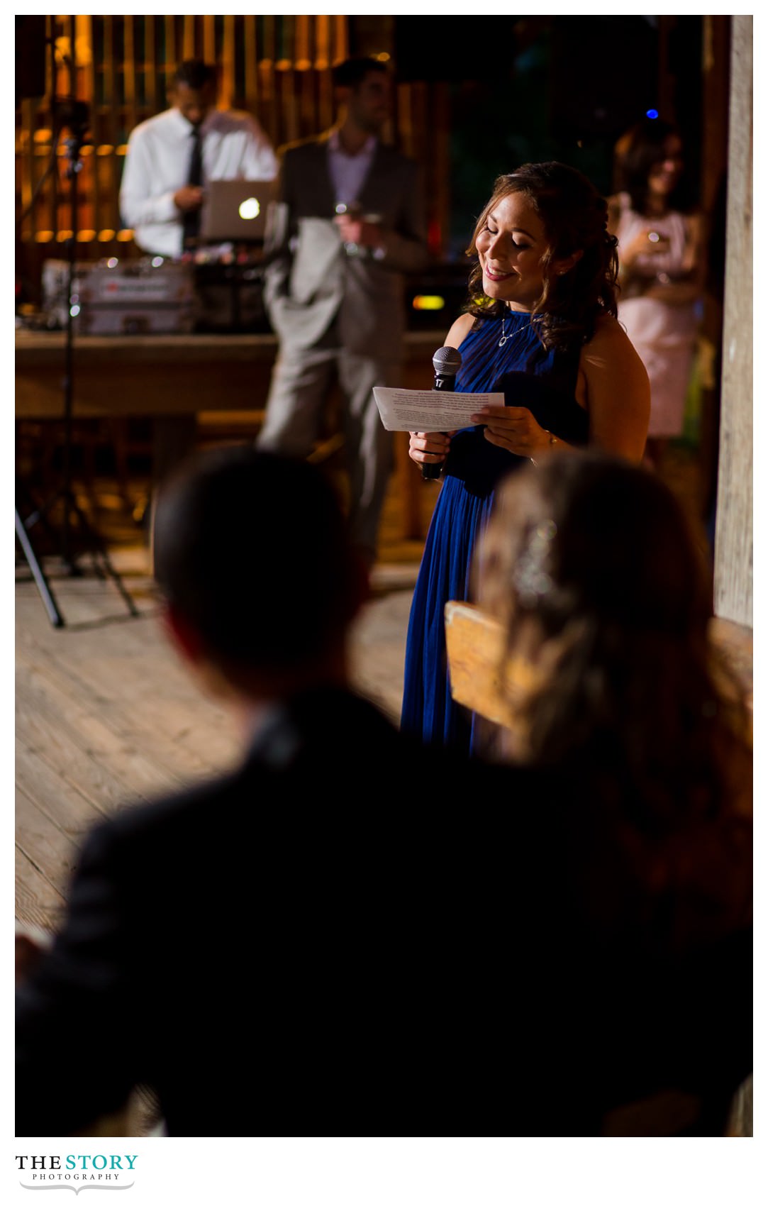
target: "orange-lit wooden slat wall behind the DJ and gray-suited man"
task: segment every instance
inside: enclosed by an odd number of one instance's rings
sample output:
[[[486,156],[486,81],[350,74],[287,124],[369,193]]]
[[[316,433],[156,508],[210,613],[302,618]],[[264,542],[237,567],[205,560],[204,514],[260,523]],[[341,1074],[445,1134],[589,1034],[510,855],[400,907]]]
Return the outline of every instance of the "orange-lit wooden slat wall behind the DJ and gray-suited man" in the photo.
[[[74,90],[92,106],[93,146],[80,180],[78,258],[137,253],[121,230],[118,191],[128,134],[159,112],[176,63],[203,55],[219,68],[219,104],[256,112],[275,146],[327,129],[334,118],[332,68],[350,54],[345,16],[87,16],[46,18],[49,33],[75,52]],[[59,43],[60,47],[64,43]],[[55,92],[70,92],[70,72],[57,55]],[[48,80],[51,68],[47,66]],[[401,84],[394,122],[399,145],[428,165],[433,250],[439,251],[447,212],[447,129],[434,88]],[[51,154],[51,99],[23,100],[17,111],[17,197],[29,204]],[[433,104],[433,100],[436,101]],[[427,121],[432,113],[432,123]],[[444,121],[440,117],[438,125]],[[48,180],[20,230],[22,252],[37,267],[69,228],[66,160],[58,186]]]

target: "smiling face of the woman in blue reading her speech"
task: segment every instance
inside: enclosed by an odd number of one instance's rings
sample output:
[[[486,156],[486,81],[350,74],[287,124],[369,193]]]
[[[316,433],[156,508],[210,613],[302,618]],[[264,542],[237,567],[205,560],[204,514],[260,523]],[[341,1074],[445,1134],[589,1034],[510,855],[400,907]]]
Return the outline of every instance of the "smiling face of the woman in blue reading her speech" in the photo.
[[[544,292],[541,257],[547,240],[524,193],[509,193],[493,206],[475,246],[486,294],[512,310],[533,309]]]

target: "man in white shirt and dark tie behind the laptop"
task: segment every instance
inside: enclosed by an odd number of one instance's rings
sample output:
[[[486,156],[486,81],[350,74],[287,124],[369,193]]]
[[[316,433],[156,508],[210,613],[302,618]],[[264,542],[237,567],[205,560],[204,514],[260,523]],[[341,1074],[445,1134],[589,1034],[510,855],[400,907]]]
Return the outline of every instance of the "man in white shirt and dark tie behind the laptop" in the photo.
[[[250,113],[216,109],[216,70],[200,59],[177,68],[171,109],[128,140],[119,206],[142,251],[180,256],[194,230],[207,180],[274,180],[275,152]],[[195,158],[198,158],[195,170]]]

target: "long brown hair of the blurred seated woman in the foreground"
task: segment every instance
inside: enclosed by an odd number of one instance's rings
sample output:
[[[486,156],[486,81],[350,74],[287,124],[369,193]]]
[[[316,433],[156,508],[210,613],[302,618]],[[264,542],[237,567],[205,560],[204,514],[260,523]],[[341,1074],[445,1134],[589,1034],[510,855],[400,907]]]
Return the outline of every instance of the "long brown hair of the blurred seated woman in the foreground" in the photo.
[[[685,885],[681,925],[698,926],[699,889],[723,917],[746,908],[745,708],[710,644],[707,560],[668,487],[598,453],[512,474],[475,593],[504,633],[502,753],[564,769],[620,865],[653,892]]]

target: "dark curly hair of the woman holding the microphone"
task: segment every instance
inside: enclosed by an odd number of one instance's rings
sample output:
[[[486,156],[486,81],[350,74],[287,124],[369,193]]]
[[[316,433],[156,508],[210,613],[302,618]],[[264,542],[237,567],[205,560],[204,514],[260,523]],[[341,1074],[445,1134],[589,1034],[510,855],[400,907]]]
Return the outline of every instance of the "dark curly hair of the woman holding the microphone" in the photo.
[[[512,194],[524,199],[544,229],[541,294],[530,308],[540,316],[544,344],[590,339],[600,314],[616,315],[616,240],[608,233],[605,200],[586,176],[562,163],[526,163],[496,181],[467,248],[477,259],[469,276],[468,311],[479,317],[504,314],[504,302],[486,293],[480,258],[489,218]]]

